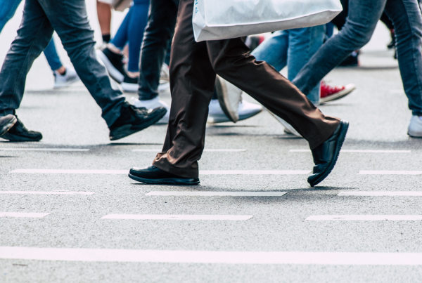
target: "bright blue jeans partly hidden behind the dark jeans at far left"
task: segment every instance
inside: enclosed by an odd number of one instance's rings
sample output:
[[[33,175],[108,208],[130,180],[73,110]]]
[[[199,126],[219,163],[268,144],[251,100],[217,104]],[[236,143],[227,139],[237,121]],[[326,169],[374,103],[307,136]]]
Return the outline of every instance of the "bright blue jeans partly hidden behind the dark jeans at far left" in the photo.
[[[0,32],[6,23],[13,18],[21,1],[22,0],[0,0]],[[53,39],[51,39],[49,45],[45,48],[44,55],[46,55],[51,70],[55,71],[60,69],[62,63],[60,62],[60,58],[58,58]]]

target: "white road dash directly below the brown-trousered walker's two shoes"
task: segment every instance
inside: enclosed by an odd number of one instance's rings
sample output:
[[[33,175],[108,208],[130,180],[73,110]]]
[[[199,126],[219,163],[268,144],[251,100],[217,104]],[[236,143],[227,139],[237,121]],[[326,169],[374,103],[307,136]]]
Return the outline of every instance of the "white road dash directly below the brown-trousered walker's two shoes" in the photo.
[[[148,192],[146,195],[186,197],[281,197],[287,192]]]

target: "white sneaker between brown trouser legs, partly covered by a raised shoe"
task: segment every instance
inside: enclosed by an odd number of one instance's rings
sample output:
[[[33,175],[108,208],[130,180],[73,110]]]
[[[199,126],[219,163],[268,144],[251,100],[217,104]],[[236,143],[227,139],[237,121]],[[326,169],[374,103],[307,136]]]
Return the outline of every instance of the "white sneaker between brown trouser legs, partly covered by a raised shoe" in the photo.
[[[248,119],[256,114],[262,112],[262,106],[248,103],[248,101],[242,100],[238,105],[239,121]],[[231,121],[229,117],[224,114],[222,107],[217,99],[211,100],[210,106],[208,107],[208,119],[207,122],[210,124],[223,123]]]

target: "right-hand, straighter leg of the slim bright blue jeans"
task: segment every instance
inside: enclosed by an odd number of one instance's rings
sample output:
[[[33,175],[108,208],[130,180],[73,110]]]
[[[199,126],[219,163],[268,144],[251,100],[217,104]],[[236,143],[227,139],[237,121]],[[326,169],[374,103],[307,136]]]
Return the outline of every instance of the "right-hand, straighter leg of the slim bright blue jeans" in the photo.
[[[139,56],[141,53],[141,44],[143,32],[148,21],[149,0],[135,0],[134,13],[129,22],[129,63],[127,70],[129,72],[139,72]]]

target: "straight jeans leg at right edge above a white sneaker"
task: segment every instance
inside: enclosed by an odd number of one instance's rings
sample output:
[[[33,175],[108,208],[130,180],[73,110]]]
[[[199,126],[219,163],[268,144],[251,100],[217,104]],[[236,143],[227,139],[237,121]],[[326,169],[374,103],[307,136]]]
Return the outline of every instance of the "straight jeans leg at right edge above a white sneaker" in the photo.
[[[412,114],[422,116],[422,18],[416,0],[388,0],[385,13],[392,20],[404,92]]]

